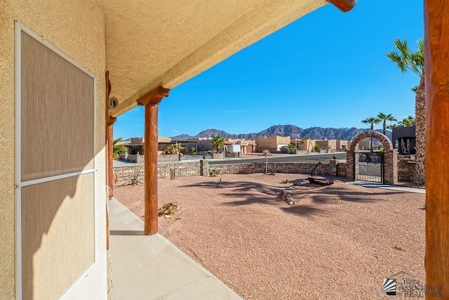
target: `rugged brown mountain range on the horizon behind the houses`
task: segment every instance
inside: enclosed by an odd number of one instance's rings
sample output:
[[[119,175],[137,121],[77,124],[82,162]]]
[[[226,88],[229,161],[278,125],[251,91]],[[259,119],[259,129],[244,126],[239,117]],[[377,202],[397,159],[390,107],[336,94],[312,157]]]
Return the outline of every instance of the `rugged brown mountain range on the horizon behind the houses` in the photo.
[[[181,134],[180,136],[172,136],[172,141],[188,140],[191,138],[210,138],[211,136],[222,136],[224,138],[258,138],[260,136],[290,136],[290,138],[303,138],[309,136],[314,140],[336,140],[338,138],[344,138],[346,140],[352,140],[359,133],[369,131],[370,129],[358,129],[356,127],[351,128],[322,128],[322,127],[310,127],[302,129],[295,125],[275,125],[271,126],[263,131],[257,133],[241,133],[231,134],[226,131],[218,129],[206,129],[201,131],[196,136],[189,136],[188,134]],[[382,133],[382,129],[376,129],[375,131]],[[391,138],[391,131],[387,131],[387,136]]]

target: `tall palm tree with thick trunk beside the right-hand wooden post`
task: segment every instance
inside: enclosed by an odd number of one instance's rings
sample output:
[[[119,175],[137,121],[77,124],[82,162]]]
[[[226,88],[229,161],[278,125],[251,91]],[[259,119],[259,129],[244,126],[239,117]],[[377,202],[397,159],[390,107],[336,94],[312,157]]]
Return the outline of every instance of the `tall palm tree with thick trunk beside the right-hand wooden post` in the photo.
[[[426,146],[426,94],[424,81],[424,43],[422,39],[417,41],[417,49],[410,50],[407,40],[395,39],[393,41],[397,51],[387,53],[387,57],[396,63],[401,72],[411,71],[420,77],[420,84],[413,88],[415,91],[415,116],[416,116],[416,167],[414,174],[415,183],[424,184],[424,155]]]

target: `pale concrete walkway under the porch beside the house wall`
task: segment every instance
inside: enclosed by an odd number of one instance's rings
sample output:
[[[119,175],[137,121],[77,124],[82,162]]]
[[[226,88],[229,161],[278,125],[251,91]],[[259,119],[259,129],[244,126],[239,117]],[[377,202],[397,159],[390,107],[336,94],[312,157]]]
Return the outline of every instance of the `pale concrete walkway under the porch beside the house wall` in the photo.
[[[241,299],[162,235],[144,235],[143,222],[109,201],[112,299]]]

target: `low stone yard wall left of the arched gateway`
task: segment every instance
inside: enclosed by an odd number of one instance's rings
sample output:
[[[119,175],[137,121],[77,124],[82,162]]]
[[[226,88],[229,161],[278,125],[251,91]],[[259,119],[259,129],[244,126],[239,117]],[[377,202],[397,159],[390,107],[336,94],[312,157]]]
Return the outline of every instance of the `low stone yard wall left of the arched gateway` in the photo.
[[[275,173],[288,174],[310,174],[314,169],[316,163],[283,163],[271,162],[268,164],[268,170]],[[337,174],[337,163],[330,161],[330,164],[323,164],[333,176]],[[115,167],[114,171],[117,178],[126,179],[132,177],[135,168],[139,168],[139,178],[143,180],[145,174],[144,166],[139,167]],[[185,162],[182,164],[158,164],[158,178],[170,178],[171,169],[175,170],[175,177],[186,176],[209,176],[209,171],[220,171],[220,174],[253,174],[264,173],[265,164],[261,163],[237,163],[237,164],[209,164],[208,160],[201,160],[200,162]],[[322,167],[316,168],[317,175],[326,176],[328,173]]]

